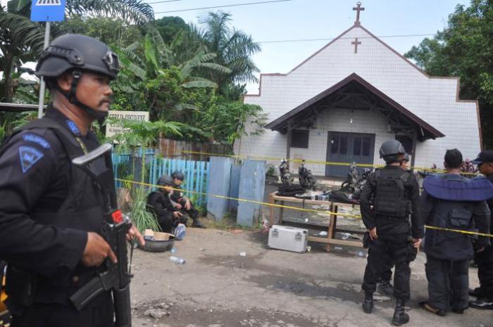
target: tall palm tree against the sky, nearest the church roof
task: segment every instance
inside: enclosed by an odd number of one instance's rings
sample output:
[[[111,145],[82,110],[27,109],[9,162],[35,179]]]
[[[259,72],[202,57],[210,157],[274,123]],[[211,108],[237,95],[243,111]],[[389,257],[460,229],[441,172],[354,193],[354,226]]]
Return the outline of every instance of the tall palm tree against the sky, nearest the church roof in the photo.
[[[217,53],[214,62],[231,70],[228,76],[211,75],[209,72],[206,73],[206,77],[218,82],[220,86],[230,82],[258,82],[254,75],[258,68],[251,57],[261,51],[261,48],[253,41],[251,35],[230,27],[230,22],[231,15],[222,11],[208,13],[200,20],[204,30],[198,32],[206,49]]]

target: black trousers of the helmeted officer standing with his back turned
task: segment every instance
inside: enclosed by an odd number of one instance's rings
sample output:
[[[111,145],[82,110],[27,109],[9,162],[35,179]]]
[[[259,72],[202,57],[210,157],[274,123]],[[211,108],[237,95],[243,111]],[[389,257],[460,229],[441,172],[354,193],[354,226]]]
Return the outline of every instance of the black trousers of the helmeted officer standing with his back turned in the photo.
[[[408,261],[408,233],[385,235],[370,241],[368,251],[368,263],[363,277],[363,290],[366,293],[374,293],[377,289],[377,280],[380,277],[382,259],[389,257],[395,263],[394,272],[394,297],[404,301],[410,298],[409,279],[411,269]]]

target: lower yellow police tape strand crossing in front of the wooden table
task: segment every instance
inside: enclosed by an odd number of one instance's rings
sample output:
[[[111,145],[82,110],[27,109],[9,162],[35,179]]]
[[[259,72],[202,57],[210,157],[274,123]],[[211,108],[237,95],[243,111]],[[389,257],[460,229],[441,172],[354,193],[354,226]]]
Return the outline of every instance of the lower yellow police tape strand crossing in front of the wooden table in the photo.
[[[127,179],[118,179],[118,178],[116,178],[115,180],[116,181],[122,181],[125,183],[131,183],[131,184],[139,184],[139,185],[143,185],[143,186],[163,188],[163,186],[158,186],[156,184],[144,183],[142,181],[129,181]],[[200,194],[200,195],[213,196],[214,198],[221,198],[221,199],[225,199],[225,200],[236,200],[236,201],[241,201],[241,202],[246,202],[246,203],[255,203],[257,205],[266,205],[268,207],[279,207],[279,208],[298,210],[298,211],[303,211],[303,212],[314,212],[314,213],[321,213],[321,214],[335,214],[337,216],[342,216],[342,217],[347,217],[347,218],[361,219],[361,215],[359,215],[359,214],[344,214],[342,212],[332,212],[330,210],[315,210],[315,209],[306,209],[306,208],[301,208],[301,207],[292,207],[290,205],[276,205],[275,203],[266,203],[266,202],[261,202],[261,201],[256,201],[256,200],[232,198],[230,196],[225,196],[225,195],[217,195],[217,194],[204,193],[204,192],[199,192],[199,191],[187,191],[187,190],[184,190],[182,188],[173,188],[173,187],[167,187],[167,188],[170,188],[173,191],[180,191],[180,192],[184,192],[184,193],[194,193],[194,194]],[[348,203],[348,204],[350,204],[350,203]],[[452,231],[455,233],[485,236],[485,237],[493,238],[493,234],[488,234],[488,233],[479,233],[479,232],[475,232],[475,231],[463,231],[461,229],[447,229],[447,228],[443,228],[443,227],[428,226],[428,225],[425,225],[425,227],[428,229],[436,229],[437,231]]]

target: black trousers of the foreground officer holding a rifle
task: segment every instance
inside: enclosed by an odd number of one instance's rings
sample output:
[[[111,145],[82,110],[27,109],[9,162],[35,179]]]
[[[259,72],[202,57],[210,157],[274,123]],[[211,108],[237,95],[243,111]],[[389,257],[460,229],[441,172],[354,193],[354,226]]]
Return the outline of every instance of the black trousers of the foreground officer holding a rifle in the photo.
[[[77,311],[72,304],[35,303],[23,316],[13,316],[11,327],[111,327],[113,326],[113,301],[106,292],[87,307]]]

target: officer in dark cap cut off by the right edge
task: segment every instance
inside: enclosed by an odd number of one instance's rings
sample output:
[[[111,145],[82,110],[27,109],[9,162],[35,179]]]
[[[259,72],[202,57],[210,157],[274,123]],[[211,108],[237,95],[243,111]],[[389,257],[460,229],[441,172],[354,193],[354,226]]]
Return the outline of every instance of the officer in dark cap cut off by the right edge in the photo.
[[[481,174],[493,183],[493,150],[484,150],[478,158],[472,161],[478,165]],[[493,198],[487,201],[489,212],[493,211]],[[489,224],[489,233],[493,234],[493,224]],[[490,240],[491,243],[491,240]],[[469,295],[478,297],[477,300],[470,302],[470,307],[475,309],[493,309],[493,246],[489,245],[484,251],[476,253],[478,263],[478,278],[480,288],[470,291]]]

